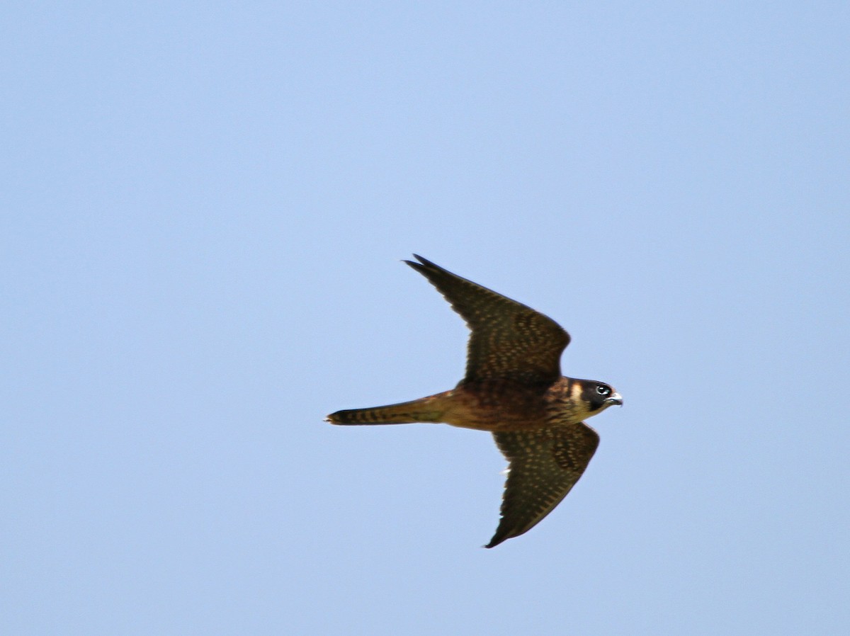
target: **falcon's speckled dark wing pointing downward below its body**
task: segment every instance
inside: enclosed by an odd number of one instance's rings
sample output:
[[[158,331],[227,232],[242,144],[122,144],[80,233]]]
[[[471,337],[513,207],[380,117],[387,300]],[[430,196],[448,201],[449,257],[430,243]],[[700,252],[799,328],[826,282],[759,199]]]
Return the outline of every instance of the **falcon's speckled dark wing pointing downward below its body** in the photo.
[[[567,496],[599,445],[580,422],[530,431],[494,433],[509,462],[501,520],[487,548],[530,531]]]

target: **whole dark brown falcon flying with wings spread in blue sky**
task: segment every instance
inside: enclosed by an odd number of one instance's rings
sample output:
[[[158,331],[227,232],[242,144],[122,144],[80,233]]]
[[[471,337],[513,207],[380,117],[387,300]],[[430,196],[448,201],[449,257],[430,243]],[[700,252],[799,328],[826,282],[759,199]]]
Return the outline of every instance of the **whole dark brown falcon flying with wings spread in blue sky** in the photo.
[[[546,315],[414,254],[405,260],[469,328],[467,365],[454,389],[387,406],[331,413],[343,425],[447,423],[489,431],[508,462],[496,533],[484,548],[519,537],[561,503],[599,445],[584,423],[623,398],[608,383],[566,378],[570,334]]]

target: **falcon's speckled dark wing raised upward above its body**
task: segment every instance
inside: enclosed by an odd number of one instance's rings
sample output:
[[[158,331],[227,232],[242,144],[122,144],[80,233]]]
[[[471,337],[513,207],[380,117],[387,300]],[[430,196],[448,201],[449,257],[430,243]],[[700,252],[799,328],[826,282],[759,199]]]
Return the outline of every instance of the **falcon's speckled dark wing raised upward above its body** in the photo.
[[[539,384],[560,378],[561,354],[570,344],[563,327],[524,304],[416,258],[419,263],[405,263],[431,281],[471,331],[467,381],[507,378]]]

